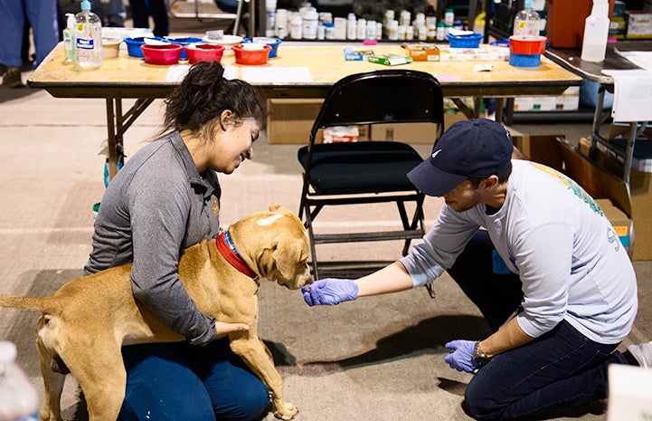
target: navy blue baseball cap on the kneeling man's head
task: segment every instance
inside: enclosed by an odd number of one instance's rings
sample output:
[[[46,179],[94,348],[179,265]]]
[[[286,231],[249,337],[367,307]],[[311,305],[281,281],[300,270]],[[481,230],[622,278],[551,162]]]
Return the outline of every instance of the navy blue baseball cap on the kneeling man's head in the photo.
[[[494,120],[462,120],[449,127],[430,157],[414,167],[408,178],[428,196],[444,196],[468,177],[503,172],[511,158],[512,136]]]

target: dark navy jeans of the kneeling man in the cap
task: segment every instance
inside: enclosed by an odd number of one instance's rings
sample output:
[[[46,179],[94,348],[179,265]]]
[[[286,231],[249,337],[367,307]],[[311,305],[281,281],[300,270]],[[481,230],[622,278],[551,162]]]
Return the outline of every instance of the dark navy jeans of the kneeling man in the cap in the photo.
[[[501,271],[495,256],[487,232],[479,231],[449,270],[493,330],[506,321],[523,297],[518,276]],[[562,321],[543,336],[496,355],[478,369],[465,393],[468,410],[477,419],[518,419],[605,398],[607,366],[628,364],[620,352],[614,352],[617,346],[589,340]]]

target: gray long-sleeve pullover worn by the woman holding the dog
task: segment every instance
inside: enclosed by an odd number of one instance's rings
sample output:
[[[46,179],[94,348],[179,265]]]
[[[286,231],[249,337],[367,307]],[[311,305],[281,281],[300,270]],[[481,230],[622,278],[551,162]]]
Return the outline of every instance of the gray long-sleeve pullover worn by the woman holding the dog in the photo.
[[[109,183],[95,221],[85,274],[134,263],[134,296],[196,345],[215,339],[215,321],[185,291],[181,252],[220,231],[217,174],[197,172],[178,132],[140,149]]]

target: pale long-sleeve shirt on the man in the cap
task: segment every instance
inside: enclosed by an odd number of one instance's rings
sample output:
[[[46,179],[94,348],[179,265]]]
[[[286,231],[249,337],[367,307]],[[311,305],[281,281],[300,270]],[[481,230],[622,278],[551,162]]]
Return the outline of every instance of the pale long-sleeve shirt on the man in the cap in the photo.
[[[401,262],[414,286],[432,282],[480,227],[523,282],[518,323],[538,337],[560,321],[600,343],[618,343],[638,310],[636,275],[600,206],[572,179],[530,161],[513,161],[503,206],[465,212],[443,206],[423,242]]]

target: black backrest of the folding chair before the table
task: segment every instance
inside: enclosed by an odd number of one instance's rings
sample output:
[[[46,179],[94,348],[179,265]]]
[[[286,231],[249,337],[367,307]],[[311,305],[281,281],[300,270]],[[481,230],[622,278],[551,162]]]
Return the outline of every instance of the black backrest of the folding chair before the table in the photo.
[[[391,69],[356,73],[335,82],[310,133],[332,126],[432,122],[444,127],[443,94],[430,73]],[[434,140],[434,139],[433,139]]]

